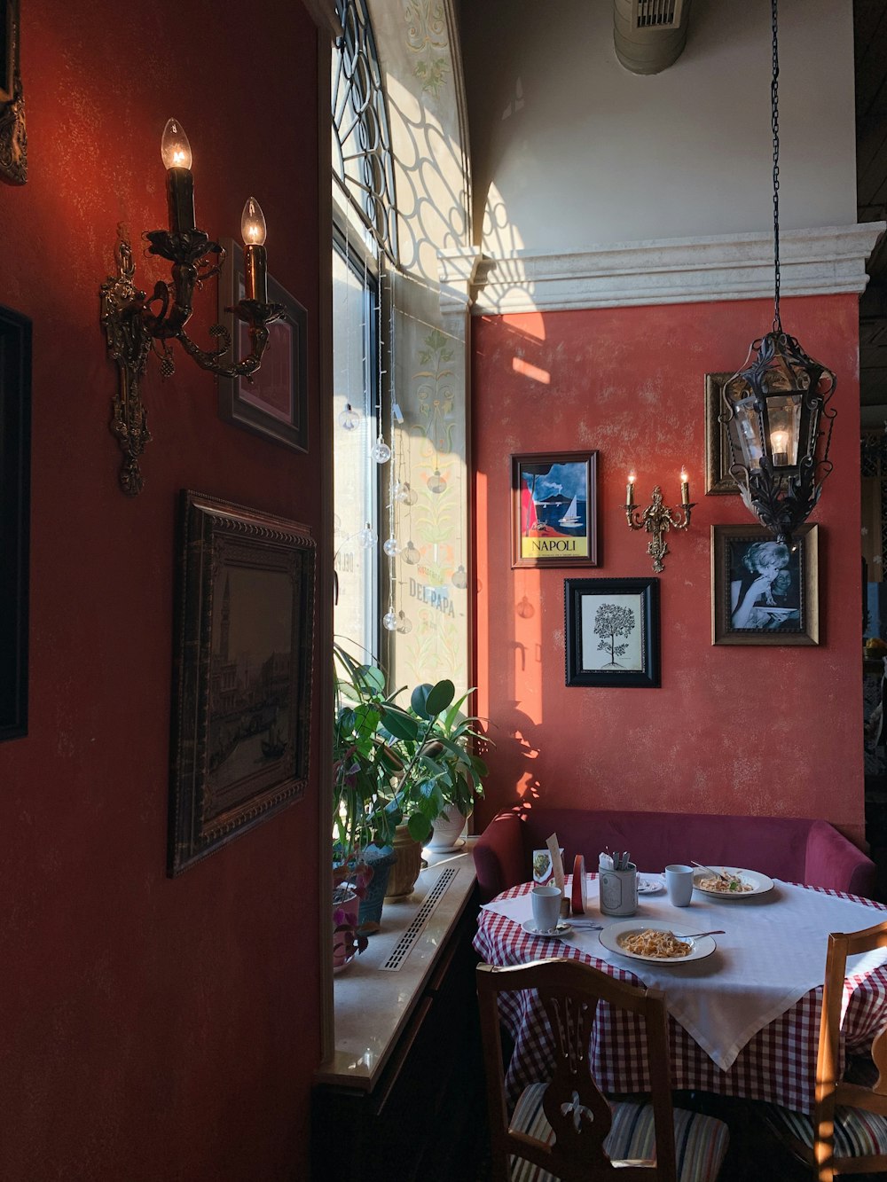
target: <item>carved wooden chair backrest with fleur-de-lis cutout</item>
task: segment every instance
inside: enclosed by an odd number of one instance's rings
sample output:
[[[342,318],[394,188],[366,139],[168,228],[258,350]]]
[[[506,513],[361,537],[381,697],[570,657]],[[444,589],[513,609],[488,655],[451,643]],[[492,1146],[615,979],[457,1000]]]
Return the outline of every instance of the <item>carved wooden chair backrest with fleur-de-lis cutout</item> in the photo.
[[[509,1158],[514,1154],[562,1182],[613,1182],[614,1177],[620,1182],[674,1182],[668,1027],[661,991],[617,981],[591,965],[566,959],[507,968],[479,965],[477,981],[494,1182],[510,1177]],[[553,1040],[555,1073],[543,1100],[555,1134],[551,1144],[510,1128],[497,999],[503,992],[519,989],[538,992]],[[610,1106],[589,1067],[589,1040],[598,1001],[639,1014],[647,1038],[656,1161],[620,1167],[617,1174],[603,1148],[611,1126]]]

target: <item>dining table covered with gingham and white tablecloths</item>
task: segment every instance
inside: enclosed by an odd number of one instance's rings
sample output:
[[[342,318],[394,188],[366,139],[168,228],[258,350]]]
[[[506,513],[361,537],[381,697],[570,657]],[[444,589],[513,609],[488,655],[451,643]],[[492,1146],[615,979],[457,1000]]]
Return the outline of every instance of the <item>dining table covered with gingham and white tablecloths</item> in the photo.
[[[762,877],[762,876],[758,876]],[[527,882],[484,904],[473,946],[488,965],[511,966],[551,956],[584,961],[633,985],[654,986],[668,1012],[672,1086],[764,1100],[799,1112],[814,1106],[822,980],[830,931],[883,922],[874,900],[769,879],[746,897],[693,890],[688,907],[673,907],[661,876],[642,873],[639,927],[675,934],[716,931],[697,941],[686,962],[629,959],[602,933],[623,920],[603,915],[597,876],[587,876],[583,916],[556,936],[533,931]],[[564,895],[572,896],[571,877]],[[607,948],[603,940],[611,946]],[[713,947],[711,947],[713,946]],[[705,954],[703,954],[705,953]],[[846,1054],[863,1053],[887,1024],[887,950],[848,962],[842,1039]],[[535,991],[504,993],[500,1018],[513,1040],[506,1073],[511,1103],[529,1084],[551,1077],[546,1018]],[[600,1002],[589,1046],[591,1073],[609,1095],[649,1090],[639,1019]]]

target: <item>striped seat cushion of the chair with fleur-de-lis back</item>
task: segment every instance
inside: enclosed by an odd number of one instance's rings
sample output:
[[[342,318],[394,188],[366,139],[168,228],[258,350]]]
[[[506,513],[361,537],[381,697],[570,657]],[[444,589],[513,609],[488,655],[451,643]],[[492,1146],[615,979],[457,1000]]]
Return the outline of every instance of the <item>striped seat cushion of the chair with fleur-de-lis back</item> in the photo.
[[[549,1144],[553,1134],[542,1108],[546,1084],[531,1084],[517,1102],[511,1129]],[[611,1158],[655,1157],[650,1104],[611,1104],[613,1128],[603,1145]],[[713,1182],[727,1151],[730,1135],[721,1121],[699,1112],[674,1110],[674,1144],[679,1182]],[[511,1158],[512,1182],[555,1182],[553,1175],[520,1157]]]

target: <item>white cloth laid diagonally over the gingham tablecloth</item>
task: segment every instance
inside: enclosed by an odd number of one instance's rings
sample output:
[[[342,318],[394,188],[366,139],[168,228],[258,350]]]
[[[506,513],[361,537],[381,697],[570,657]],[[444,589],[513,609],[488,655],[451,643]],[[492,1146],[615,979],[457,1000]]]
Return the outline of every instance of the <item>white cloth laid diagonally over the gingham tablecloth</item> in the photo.
[[[621,922],[601,915],[596,878],[588,898],[587,918]],[[485,909],[517,923],[532,918],[529,895],[494,900]],[[603,947],[597,931],[581,928],[559,939],[662,989],[675,1021],[727,1070],[750,1038],[822,983],[828,934],[869,928],[879,916],[862,903],[777,879],[766,895],[731,902],[693,891],[689,907],[672,907],[666,894],[643,895],[632,918],[663,920],[678,933],[723,928],[724,935],[714,936],[711,956],[686,965],[620,956]],[[847,975],[859,980],[885,962],[887,949],[852,957]]]

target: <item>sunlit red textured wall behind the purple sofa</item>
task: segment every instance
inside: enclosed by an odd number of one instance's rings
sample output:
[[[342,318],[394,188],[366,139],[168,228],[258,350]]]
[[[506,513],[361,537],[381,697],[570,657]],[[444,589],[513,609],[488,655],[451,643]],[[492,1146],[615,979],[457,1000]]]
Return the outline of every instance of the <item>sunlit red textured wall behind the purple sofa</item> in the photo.
[[[772,304],[749,300],[484,317],[473,323],[479,592],[474,684],[497,742],[483,824],[519,801],[823,817],[863,831],[857,304],[783,300],[783,323],[837,372],[835,469],[820,524],[818,648],[713,647],[710,527],[752,524],[705,496],[704,375],[736,370]],[[510,456],[598,452],[602,561],[511,570]],[[622,506],[660,483],[697,508],[660,576],[660,689],[565,688],[564,577],[653,574]],[[526,598],[524,615],[518,604]],[[531,613],[526,612],[529,604]]]

